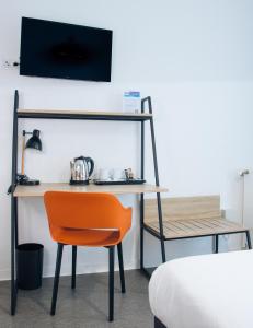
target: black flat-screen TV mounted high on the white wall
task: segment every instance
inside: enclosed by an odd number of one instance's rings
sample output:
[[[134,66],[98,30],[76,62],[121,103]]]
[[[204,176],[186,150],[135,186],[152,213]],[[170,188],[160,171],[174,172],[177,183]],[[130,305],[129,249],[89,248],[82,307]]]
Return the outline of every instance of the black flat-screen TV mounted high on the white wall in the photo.
[[[110,30],[22,17],[20,74],[111,81]]]

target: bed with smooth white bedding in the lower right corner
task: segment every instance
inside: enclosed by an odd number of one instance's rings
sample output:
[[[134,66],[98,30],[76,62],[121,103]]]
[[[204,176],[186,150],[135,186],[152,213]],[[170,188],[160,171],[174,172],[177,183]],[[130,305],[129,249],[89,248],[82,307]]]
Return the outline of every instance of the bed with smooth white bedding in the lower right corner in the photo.
[[[168,328],[253,328],[253,250],[169,261],[151,277],[149,301]]]

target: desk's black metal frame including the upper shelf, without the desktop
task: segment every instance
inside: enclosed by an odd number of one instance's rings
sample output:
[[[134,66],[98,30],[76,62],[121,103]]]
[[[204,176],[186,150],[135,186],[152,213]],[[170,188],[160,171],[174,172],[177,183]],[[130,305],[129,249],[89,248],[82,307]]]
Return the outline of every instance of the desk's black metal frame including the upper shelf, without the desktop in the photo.
[[[146,104],[148,106],[148,112],[150,115],[145,115]],[[117,121],[137,121],[141,124],[141,141],[140,141],[140,176],[145,178],[145,121],[150,122],[151,142],[152,142],[152,156],[154,166],[154,177],[156,186],[159,185],[159,173],[158,173],[158,160],[157,160],[157,149],[156,149],[156,138],[154,138],[154,125],[152,116],[152,105],[151,97],[146,97],[141,101],[141,113],[140,114],[110,114],[96,113],[89,114],[85,113],[49,113],[43,110],[25,112],[19,109],[19,92],[15,90],[14,93],[14,110],[13,110],[13,137],[12,137],[12,175],[11,175],[11,315],[15,314],[16,309],[16,297],[18,297],[18,285],[16,285],[16,263],[15,263],[15,249],[19,245],[19,227],[18,227],[18,197],[14,197],[15,186],[16,186],[16,174],[18,174],[18,126],[20,118],[39,118],[39,119],[81,119],[81,120],[117,120]],[[163,223],[162,223],[162,208],[161,208],[161,196],[157,192],[157,203],[158,203],[158,219],[160,227],[160,244],[161,244],[161,257],[162,262],[165,262],[165,247],[164,247],[164,236],[163,236]],[[145,267],[143,263],[143,239],[145,239],[145,197],[143,194],[140,195],[140,269],[142,272],[150,277],[150,270]],[[146,230],[149,232],[148,230]]]

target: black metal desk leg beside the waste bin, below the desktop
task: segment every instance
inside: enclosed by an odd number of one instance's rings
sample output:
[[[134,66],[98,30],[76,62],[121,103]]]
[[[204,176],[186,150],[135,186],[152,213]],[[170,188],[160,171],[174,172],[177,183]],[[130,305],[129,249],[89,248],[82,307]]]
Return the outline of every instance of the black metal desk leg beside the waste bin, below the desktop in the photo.
[[[15,281],[15,246],[18,243],[18,200],[11,198],[11,315],[15,314],[16,308],[16,281]]]

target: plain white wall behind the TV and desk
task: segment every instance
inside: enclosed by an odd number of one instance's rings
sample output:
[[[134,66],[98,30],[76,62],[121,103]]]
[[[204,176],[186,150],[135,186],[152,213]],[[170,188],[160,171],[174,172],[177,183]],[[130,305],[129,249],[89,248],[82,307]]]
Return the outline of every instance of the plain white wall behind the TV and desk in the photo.
[[[12,106],[14,89],[25,108],[89,108],[120,110],[125,90],[151,95],[156,116],[160,178],[171,196],[220,194],[232,220],[240,220],[241,180],[251,168],[253,104],[253,2],[251,0],[43,2],[0,0],[0,279],[10,278],[10,197]],[[112,83],[19,77],[3,60],[16,60],[21,16],[112,28]],[[96,167],[137,169],[139,137],[136,124],[23,120],[21,129],[42,130],[43,153],[26,152],[26,173],[43,181],[66,181],[69,161],[90,155]],[[147,136],[148,140],[149,136]],[[59,142],[60,141],[60,142]],[[147,178],[153,180],[147,154]],[[246,220],[253,210],[252,178],[246,178]],[[124,242],[126,268],[138,267],[138,212]],[[42,199],[20,201],[21,242],[45,245],[45,274],[53,274],[56,246],[50,241]],[[229,237],[229,248],[238,246]],[[159,262],[159,245],[146,238],[150,261]],[[227,239],[222,239],[227,249]],[[208,238],[171,242],[171,257],[210,251]],[[70,255],[69,250],[67,250]],[[81,249],[79,272],[103,271],[101,249]],[[70,272],[66,256],[62,273]]]

